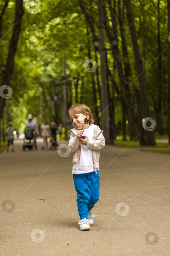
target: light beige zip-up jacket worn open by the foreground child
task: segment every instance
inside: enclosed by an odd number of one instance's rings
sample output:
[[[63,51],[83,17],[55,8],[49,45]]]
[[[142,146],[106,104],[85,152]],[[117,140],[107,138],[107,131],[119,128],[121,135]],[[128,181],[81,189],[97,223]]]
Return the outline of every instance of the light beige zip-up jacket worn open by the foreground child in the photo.
[[[91,124],[95,125],[95,124]],[[78,130],[76,128],[71,129],[70,131],[70,140],[68,142],[68,147],[71,151],[74,152],[72,159],[72,169],[76,169],[80,159],[80,139],[77,138]],[[95,125],[94,127],[94,136],[93,140],[88,139],[86,147],[90,147],[93,152],[93,163],[95,171],[99,168],[99,158],[100,158],[100,149],[105,146],[105,139],[103,136],[103,131],[100,130],[100,127]]]

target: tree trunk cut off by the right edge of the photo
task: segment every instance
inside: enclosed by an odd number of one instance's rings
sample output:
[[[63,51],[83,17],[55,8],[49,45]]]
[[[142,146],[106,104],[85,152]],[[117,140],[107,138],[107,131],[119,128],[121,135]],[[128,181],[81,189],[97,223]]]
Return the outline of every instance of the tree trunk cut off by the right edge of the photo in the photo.
[[[170,0],[167,0],[167,8],[168,8],[168,31],[170,34]],[[168,136],[169,136],[169,144],[170,144],[170,39],[168,40]]]

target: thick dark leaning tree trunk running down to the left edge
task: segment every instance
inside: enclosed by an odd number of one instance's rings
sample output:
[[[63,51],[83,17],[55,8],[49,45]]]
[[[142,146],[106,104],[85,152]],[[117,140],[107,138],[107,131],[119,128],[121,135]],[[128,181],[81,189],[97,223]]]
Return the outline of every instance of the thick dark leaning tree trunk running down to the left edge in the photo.
[[[10,86],[11,75],[13,72],[13,62],[14,62],[14,57],[17,50],[17,43],[19,40],[20,31],[21,31],[21,20],[23,18],[23,15],[24,15],[23,0],[16,0],[13,32],[12,32],[12,37],[9,44],[7,63],[5,65],[5,71],[3,74],[1,86],[3,85]],[[4,107],[5,107],[5,98],[0,97],[0,119],[2,117]]]

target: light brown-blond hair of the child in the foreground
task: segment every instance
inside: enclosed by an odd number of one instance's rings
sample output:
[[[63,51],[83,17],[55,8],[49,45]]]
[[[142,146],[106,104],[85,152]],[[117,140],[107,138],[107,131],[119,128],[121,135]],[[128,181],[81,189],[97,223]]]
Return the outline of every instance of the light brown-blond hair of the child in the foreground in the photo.
[[[84,115],[88,115],[89,116],[89,124],[93,124],[94,123],[94,119],[93,119],[93,114],[91,113],[91,109],[89,107],[87,107],[84,104],[78,104],[76,103],[75,105],[73,105],[69,110],[68,110],[68,119],[70,120],[70,114],[84,114]],[[70,120],[71,121],[71,120]]]

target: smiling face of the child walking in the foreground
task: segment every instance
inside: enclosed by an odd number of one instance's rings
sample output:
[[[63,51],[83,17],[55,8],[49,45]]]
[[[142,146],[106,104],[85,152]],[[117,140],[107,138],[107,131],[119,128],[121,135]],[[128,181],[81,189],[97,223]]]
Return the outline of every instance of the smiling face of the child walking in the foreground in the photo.
[[[83,129],[84,127],[84,118],[89,117],[88,115],[79,113],[79,114],[70,114],[70,121],[72,123],[72,126],[78,130]],[[86,124],[87,126],[89,126],[88,124]],[[84,127],[85,129],[86,126]]]

